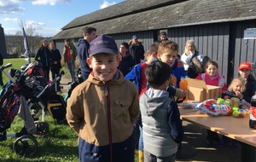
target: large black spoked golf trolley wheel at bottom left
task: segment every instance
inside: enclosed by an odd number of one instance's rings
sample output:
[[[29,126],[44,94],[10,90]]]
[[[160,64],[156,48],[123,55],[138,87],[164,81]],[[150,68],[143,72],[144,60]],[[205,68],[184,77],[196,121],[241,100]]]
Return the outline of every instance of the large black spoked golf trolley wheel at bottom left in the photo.
[[[23,135],[16,139],[13,150],[20,157],[32,157],[38,149],[38,141],[32,135]]]

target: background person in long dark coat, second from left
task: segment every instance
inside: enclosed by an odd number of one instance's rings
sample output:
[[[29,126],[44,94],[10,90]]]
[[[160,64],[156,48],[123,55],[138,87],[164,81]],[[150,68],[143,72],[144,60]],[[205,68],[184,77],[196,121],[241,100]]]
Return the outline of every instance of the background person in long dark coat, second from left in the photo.
[[[49,43],[49,51],[51,56],[51,78],[54,80],[61,70],[61,53],[59,49],[55,48],[55,43]],[[60,80],[55,84],[55,91],[61,91],[60,89]]]

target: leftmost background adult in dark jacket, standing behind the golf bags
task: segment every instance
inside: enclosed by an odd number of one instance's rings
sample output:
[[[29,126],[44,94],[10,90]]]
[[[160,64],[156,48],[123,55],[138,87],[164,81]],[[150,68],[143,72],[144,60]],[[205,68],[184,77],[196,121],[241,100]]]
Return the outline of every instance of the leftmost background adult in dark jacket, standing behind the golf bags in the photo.
[[[49,79],[49,67],[50,63],[50,51],[48,49],[48,41],[46,39],[41,41],[37,54],[35,55],[35,61],[40,61],[43,65],[44,77]]]

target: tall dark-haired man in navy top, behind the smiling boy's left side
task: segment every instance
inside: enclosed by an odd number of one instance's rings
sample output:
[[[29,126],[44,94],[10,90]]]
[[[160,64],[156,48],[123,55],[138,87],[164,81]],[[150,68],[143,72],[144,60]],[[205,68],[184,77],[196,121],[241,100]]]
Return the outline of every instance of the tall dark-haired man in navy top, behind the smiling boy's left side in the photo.
[[[96,38],[96,28],[85,26],[83,29],[84,38],[79,39],[79,62],[82,77],[86,80],[91,72],[91,68],[87,64],[89,58],[88,50],[90,49],[90,42]]]

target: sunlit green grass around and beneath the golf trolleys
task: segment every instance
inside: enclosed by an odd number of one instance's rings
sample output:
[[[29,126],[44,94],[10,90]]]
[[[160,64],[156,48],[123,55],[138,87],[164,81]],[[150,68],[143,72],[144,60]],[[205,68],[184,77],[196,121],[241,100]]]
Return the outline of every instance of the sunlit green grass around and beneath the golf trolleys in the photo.
[[[24,59],[4,59],[3,65],[6,63],[12,63],[13,68],[20,69],[21,66],[26,65]],[[62,68],[67,74],[67,68]],[[65,76],[66,77],[66,76]],[[68,77],[68,75],[67,75]],[[5,84],[9,78],[3,74],[3,84]],[[35,135],[38,141],[37,153],[31,158],[20,158],[12,150],[15,137],[9,137],[6,141],[0,142],[0,161],[8,162],[25,162],[25,161],[42,161],[42,162],[66,162],[66,161],[79,161],[78,150],[78,136],[67,124],[56,124],[55,121],[46,113],[46,121],[49,124],[49,136],[42,137]],[[14,122],[11,124],[11,128],[7,133],[19,132],[24,125],[24,121],[18,116],[15,117]],[[137,154],[135,156],[137,162]]]

